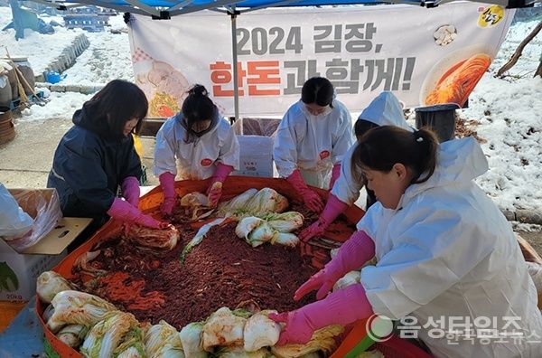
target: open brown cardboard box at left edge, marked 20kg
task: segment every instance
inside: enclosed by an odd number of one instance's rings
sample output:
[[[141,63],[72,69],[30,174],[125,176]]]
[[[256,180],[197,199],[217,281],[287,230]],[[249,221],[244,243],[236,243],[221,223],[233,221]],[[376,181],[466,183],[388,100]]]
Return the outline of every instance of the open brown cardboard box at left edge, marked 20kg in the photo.
[[[54,189],[9,189],[17,197],[24,212],[34,219],[37,215],[35,203],[39,198],[54,200]],[[56,221],[56,220],[55,220]],[[66,256],[66,248],[92,221],[89,218],[61,218],[51,231],[42,233],[42,238],[33,246],[17,252],[5,240],[0,239],[0,300],[28,301],[36,292],[36,278],[56,266]]]

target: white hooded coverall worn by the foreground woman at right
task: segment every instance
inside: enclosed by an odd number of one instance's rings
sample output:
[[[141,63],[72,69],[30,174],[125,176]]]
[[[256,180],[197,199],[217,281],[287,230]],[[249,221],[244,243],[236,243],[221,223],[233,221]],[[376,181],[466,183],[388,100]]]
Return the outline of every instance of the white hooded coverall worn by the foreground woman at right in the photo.
[[[541,357],[537,290],[509,222],[473,182],[488,170],[481,147],[466,137],[439,148],[428,181],[410,185],[396,210],[375,203],[358,223],[378,259],[361,270],[370,305],[391,319],[416,318],[435,357]],[[462,323],[522,339],[465,339],[453,332]]]

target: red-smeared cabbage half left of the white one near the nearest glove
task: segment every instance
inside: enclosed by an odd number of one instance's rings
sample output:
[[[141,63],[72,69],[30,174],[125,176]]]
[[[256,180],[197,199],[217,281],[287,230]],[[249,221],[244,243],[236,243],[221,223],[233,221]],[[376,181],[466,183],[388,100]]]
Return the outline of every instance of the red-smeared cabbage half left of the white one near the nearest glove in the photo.
[[[228,307],[221,307],[203,325],[203,349],[211,352],[217,345],[243,344],[243,328],[247,318],[236,316]]]

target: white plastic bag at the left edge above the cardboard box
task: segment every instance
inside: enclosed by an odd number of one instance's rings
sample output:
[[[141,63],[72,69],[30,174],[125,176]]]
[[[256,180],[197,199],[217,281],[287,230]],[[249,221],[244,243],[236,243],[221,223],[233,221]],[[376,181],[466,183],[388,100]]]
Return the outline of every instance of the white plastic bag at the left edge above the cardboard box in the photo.
[[[0,237],[13,240],[32,230],[33,218],[15,201],[4,184],[0,184]]]

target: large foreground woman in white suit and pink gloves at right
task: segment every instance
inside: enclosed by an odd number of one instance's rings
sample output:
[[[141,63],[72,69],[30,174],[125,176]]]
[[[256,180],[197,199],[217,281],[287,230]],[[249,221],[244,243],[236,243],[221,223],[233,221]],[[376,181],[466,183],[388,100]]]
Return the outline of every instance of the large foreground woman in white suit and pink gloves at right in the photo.
[[[438,145],[429,130],[377,127],[361,138],[352,167],[378,203],[294,296],[318,289],[319,301],[270,316],[285,323],[278,344],[378,314],[409,317],[416,328],[407,329],[435,357],[540,357],[536,288],[509,222],[473,181],[488,170],[476,140]],[[360,284],[326,296],[375,255]]]

